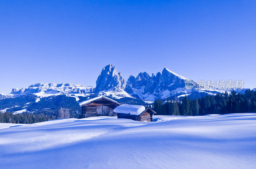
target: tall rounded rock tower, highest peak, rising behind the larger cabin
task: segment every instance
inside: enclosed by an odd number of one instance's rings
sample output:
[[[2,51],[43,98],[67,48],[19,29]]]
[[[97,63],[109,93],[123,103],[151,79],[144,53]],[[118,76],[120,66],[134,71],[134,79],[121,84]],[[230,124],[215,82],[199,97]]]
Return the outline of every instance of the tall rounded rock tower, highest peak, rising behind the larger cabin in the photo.
[[[123,92],[126,82],[121,73],[116,71],[116,67],[109,64],[103,67],[96,81],[95,92]]]

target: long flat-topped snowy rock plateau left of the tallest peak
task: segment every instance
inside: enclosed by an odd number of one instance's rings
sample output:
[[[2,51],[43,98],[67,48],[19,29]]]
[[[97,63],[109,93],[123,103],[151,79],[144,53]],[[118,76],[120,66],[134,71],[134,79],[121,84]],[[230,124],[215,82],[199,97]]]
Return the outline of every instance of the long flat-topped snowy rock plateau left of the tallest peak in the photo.
[[[92,86],[84,87],[83,85],[73,83],[35,83],[28,88],[13,88],[10,94],[24,95],[42,91],[57,91],[61,94],[76,94],[93,92],[93,89]]]

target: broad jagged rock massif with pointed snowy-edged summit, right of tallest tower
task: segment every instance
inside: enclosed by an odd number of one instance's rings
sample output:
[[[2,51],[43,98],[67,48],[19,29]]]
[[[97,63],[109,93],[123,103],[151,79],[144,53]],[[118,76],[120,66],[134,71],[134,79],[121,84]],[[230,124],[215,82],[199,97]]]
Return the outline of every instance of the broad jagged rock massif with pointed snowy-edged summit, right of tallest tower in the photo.
[[[141,72],[135,78],[130,76],[127,81],[125,91],[130,95],[147,100],[156,98],[164,98],[175,93],[175,91],[184,91],[185,81],[187,78],[173,73],[164,68],[162,74],[158,72],[156,75],[150,76],[146,72]]]

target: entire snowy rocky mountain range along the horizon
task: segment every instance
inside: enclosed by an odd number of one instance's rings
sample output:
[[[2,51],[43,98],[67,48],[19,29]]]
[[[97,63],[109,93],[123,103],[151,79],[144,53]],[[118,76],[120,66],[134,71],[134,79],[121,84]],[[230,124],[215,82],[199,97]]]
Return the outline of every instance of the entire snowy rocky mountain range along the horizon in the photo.
[[[149,75],[146,72],[139,73],[136,77],[130,76],[127,81],[124,80],[116,67],[109,64],[102,68],[97,80],[96,87],[85,87],[81,84],[73,83],[35,83],[28,88],[13,88],[8,95],[0,94],[0,99],[19,97],[21,95],[34,94],[40,97],[51,95],[68,95],[76,97],[88,96],[91,94],[107,95],[115,98],[131,97],[148,101],[164,99],[167,97],[180,97],[184,95],[206,95],[223,93],[225,91],[245,89],[236,88],[215,88],[204,86],[204,88],[185,88],[185,81],[190,80],[180,76],[167,68],[162,73]],[[196,82],[194,82],[197,85]]]

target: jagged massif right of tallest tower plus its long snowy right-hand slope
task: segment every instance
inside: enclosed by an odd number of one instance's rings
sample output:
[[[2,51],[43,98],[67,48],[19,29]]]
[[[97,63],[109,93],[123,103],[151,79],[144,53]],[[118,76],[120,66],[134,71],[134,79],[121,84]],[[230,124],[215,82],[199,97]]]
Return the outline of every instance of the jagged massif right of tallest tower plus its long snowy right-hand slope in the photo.
[[[152,74],[150,76],[146,72],[141,72],[135,78],[130,76],[125,91],[132,95],[133,97],[145,99],[145,100],[155,100],[164,99],[170,96],[184,96],[194,93],[198,95],[199,93],[204,94],[215,94],[224,93],[225,91],[236,90],[243,92],[245,89],[241,88],[215,88],[212,86],[204,86],[204,88],[185,88],[185,81],[190,80],[186,77],[180,76],[167,68],[164,68],[162,74],[158,72],[156,75]],[[195,85],[198,84],[194,81]]]

